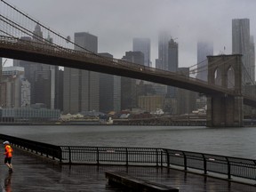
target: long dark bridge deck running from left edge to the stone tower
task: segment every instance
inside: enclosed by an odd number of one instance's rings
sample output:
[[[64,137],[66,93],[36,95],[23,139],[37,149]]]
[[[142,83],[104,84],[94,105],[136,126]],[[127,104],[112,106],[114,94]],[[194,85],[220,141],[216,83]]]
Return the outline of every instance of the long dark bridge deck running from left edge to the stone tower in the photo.
[[[200,92],[205,95],[237,95],[231,89],[215,84],[209,85],[207,82],[196,78],[170,71],[149,68],[124,60],[106,58],[90,52],[75,51],[56,44],[42,44],[7,36],[0,36],[0,57],[79,68],[116,76],[127,76],[156,84],[166,84],[193,92]],[[256,107],[256,99],[252,96],[244,95],[244,104]]]

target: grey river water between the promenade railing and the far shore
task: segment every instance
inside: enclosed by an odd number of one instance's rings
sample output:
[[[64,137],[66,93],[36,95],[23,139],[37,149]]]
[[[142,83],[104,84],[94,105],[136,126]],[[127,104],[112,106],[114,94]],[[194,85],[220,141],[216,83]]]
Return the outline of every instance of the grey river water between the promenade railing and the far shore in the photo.
[[[256,159],[256,127],[1,125],[0,133],[54,145],[171,148]]]

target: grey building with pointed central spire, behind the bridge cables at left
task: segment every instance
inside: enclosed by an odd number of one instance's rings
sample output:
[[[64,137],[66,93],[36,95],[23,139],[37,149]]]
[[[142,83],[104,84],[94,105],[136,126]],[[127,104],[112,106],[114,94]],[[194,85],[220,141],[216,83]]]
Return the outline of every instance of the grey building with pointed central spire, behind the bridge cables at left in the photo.
[[[38,24],[35,27],[32,38],[22,36],[21,39],[33,42],[43,41],[45,44],[52,43],[50,36],[44,39],[43,32]],[[13,66],[20,66],[25,70],[24,76],[28,79],[31,86],[31,104],[44,103],[46,108],[53,109],[56,96],[55,72],[58,70],[58,67],[25,60],[13,60]]]

